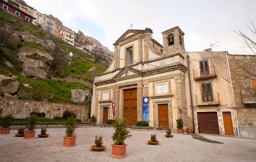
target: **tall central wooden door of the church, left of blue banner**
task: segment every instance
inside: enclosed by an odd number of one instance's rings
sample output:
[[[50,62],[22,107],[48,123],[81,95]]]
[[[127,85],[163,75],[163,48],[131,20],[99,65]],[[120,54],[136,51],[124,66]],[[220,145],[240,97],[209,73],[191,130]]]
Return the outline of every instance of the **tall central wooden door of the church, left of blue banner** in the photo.
[[[128,125],[137,124],[137,88],[123,91],[123,118],[128,120]]]

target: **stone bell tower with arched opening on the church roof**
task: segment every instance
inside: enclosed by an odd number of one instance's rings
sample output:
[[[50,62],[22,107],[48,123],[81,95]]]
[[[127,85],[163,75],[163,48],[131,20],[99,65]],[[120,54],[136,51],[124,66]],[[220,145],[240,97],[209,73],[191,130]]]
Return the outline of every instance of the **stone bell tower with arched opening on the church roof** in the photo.
[[[162,32],[163,34],[163,55],[172,55],[185,52],[184,32],[179,26]]]

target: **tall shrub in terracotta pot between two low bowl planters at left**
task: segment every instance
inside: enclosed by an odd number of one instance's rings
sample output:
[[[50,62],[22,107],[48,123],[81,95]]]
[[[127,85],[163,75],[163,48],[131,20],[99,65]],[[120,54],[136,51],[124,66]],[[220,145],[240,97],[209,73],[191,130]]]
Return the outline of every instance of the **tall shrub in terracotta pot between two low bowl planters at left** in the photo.
[[[38,117],[35,114],[30,115],[29,118],[27,118],[26,127],[27,130],[25,131],[24,139],[33,139],[35,138],[35,129],[36,129],[36,123],[38,122]]]

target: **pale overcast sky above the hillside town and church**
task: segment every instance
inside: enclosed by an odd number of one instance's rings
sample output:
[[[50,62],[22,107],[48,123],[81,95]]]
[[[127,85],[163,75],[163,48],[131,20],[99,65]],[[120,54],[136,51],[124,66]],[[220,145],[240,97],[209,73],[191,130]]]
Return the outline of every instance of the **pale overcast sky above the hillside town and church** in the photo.
[[[163,44],[162,31],[179,26],[186,51],[245,54],[243,40],[231,29],[248,32],[247,16],[256,21],[256,0],[25,0],[38,12],[52,14],[73,31],[83,31],[114,51],[115,41],[132,23],[133,29],[153,30]],[[255,23],[256,24],[256,23]],[[254,37],[255,38],[255,37]]]

